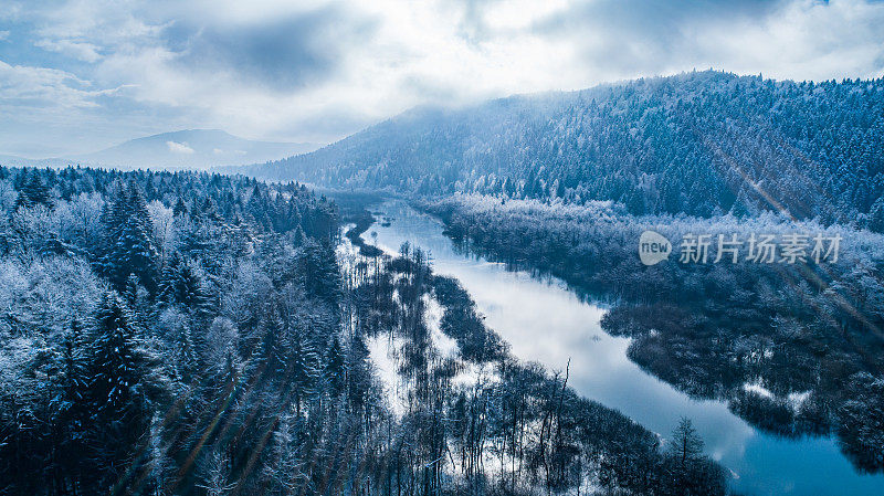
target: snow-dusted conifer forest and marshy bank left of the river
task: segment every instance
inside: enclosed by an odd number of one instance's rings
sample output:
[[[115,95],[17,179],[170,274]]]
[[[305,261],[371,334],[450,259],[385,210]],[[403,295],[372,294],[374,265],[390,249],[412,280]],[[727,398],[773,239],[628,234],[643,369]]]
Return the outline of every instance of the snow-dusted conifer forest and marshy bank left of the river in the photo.
[[[421,250],[346,250],[360,212],[301,184],[0,168],[0,210],[4,494],[726,490],[690,421],[664,445],[514,359]]]

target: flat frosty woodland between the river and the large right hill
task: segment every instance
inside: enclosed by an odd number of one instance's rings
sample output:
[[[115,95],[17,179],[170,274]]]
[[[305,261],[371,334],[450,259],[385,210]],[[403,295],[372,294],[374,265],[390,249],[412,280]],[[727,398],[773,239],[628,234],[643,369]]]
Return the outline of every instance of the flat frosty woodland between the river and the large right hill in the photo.
[[[717,399],[764,431],[835,434],[862,471],[884,471],[884,236],[765,213],[627,214],[622,205],[546,204],[452,196],[422,201],[463,250],[562,278],[609,300],[606,331],[629,357],[695,398]],[[639,235],[821,232],[842,239],[836,263],[644,266]],[[715,247],[713,247],[713,251]]]

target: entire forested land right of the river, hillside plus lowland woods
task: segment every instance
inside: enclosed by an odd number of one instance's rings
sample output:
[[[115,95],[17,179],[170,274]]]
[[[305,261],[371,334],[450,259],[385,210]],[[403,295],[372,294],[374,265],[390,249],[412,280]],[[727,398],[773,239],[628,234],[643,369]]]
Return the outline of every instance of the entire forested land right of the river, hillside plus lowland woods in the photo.
[[[856,473],[881,474],[883,89],[881,78],[695,71],[415,108],[230,170],[404,198],[444,223],[464,258],[606,304],[601,328],[629,339],[644,372],[772,439],[831,439]],[[356,224],[372,221],[390,222]],[[676,250],[697,233],[842,244],[832,263],[718,264],[713,243],[708,262],[645,266],[645,230]]]

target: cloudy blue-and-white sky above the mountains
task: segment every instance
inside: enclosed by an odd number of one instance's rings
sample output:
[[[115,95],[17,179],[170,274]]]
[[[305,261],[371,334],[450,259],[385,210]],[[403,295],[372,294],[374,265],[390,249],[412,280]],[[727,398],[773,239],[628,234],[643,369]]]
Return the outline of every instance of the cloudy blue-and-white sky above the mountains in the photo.
[[[0,154],[328,143],[420,104],[715,67],[884,75],[872,0],[0,0]]]

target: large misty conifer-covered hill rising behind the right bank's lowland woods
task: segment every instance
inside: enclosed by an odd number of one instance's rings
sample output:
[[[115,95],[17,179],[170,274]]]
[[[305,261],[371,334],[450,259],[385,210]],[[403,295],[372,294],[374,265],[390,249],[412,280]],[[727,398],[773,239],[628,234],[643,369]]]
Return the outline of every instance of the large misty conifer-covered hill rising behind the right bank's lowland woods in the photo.
[[[633,213],[788,209],[884,222],[884,81],[695,72],[581,92],[414,109],[272,179],[415,193],[613,200]],[[242,170],[242,169],[240,169]]]

